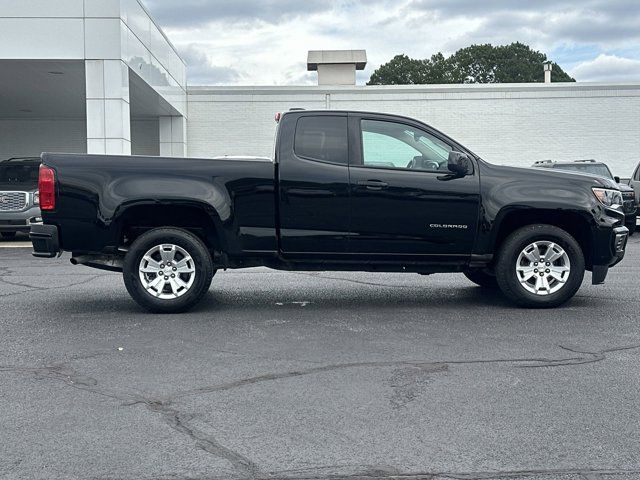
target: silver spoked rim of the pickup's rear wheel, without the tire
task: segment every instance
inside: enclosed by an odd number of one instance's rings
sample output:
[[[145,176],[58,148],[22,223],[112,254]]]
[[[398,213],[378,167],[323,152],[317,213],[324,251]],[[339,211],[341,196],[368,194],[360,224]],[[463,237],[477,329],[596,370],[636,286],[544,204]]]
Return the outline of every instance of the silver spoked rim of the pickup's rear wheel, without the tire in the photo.
[[[196,268],[191,255],[171,243],[156,245],[140,260],[140,282],[152,296],[172,300],[191,289]]]

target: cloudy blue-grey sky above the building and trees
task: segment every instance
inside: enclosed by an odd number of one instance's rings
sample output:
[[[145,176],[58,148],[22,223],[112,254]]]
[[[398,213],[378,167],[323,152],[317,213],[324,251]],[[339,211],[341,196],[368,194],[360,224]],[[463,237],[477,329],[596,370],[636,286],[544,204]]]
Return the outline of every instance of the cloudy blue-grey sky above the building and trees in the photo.
[[[640,81],[640,0],[143,0],[190,85],[313,85],[308,50],[398,54],[520,41],[578,81]]]

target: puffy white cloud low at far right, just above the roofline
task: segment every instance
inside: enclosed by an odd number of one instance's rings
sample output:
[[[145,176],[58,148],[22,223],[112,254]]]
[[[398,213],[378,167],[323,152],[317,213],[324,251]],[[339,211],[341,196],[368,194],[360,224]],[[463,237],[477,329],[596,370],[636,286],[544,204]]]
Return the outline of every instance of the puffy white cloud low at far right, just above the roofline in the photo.
[[[638,82],[640,60],[601,54],[578,64],[571,75],[583,82]]]

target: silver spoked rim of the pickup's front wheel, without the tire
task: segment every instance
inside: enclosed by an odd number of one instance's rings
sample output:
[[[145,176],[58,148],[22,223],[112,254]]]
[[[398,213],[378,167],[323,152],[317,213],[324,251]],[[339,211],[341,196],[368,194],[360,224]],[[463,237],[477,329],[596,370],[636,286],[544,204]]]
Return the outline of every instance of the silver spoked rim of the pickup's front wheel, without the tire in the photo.
[[[569,255],[557,243],[533,242],[525,247],[516,263],[520,285],[536,295],[551,295],[562,289],[569,279]]]

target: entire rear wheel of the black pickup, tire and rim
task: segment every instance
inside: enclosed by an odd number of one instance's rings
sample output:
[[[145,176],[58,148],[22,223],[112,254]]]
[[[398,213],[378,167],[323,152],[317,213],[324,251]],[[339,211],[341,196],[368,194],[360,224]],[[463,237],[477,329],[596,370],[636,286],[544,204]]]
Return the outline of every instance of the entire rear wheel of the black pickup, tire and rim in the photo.
[[[156,228],[138,237],[123,266],[131,297],[155,313],[190,309],[207,293],[214,274],[207,247],[177,228]]]

